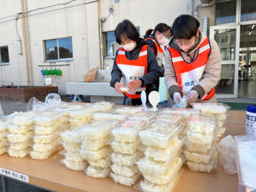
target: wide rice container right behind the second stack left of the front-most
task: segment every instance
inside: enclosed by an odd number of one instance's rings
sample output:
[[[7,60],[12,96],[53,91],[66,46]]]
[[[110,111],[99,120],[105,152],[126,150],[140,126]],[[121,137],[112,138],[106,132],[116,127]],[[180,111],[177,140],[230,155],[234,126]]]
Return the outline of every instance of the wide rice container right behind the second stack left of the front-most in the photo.
[[[126,114],[126,113],[115,113],[113,111],[109,112],[105,112],[105,111],[100,111],[100,112],[96,112],[94,113],[94,119],[96,121],[100,121],[100,120],[119,120],[122,121],[123,119],[127,119],[128,117],[130,117],[131,115]]]

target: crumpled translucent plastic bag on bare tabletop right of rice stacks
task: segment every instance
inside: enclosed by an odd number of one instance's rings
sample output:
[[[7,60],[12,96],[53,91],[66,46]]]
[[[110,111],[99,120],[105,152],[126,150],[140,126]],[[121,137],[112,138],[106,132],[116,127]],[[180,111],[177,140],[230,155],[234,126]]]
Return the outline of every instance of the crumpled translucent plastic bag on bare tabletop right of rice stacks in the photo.
[[[236,142],[231,135],[228,135],[220,140],[218,144],[218,151],[220,155],[220,163],[224,167],[224,172],[227,174],[234,174],[237,172],[236,163]]]

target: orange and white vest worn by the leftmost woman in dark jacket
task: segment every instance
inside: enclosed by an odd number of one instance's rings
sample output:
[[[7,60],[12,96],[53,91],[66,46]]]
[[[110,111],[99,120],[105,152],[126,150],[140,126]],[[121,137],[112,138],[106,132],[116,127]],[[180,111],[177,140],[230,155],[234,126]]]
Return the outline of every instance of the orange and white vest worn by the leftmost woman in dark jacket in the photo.
[[[144,45],[141,48],[139,57],[136,60],[129,60],[125,56],[125,49],[120,47],[116,58],[117,67],[123,73],[123,79],[127,85],[129,82],[140,79],[143,75],[146,75],[148,69],[148,45]],[[142,92],[146,90],[146,86],[143,88],[137,88],[135,91],[126,92],[126,96],[129,98],[140,98],[140,94],[136,92]]]

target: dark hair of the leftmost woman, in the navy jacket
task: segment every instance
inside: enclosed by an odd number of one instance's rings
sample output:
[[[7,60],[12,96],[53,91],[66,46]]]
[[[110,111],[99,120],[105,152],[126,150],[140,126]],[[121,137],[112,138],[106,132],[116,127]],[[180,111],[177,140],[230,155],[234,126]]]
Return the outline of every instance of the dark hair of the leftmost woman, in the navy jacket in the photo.
[[[115,36],[117,43],[121,44],[121,36],[137,41],[139,39],[139,32],[137,32],[132,22],[129,20],[123,20],[123,22],[117,25]]]

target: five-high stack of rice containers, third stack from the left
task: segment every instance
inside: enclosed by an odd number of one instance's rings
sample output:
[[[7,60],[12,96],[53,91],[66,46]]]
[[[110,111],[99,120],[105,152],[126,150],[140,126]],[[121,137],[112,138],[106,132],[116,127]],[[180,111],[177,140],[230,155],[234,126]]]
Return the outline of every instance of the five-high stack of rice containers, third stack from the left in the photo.
[[[33,150],[30,152],[32,159],[45,160],[61,150],[59,132],[61,131],[62,115],[61,112],[47,111],[32,117],[35,124],[32,127],[35,133]]]

